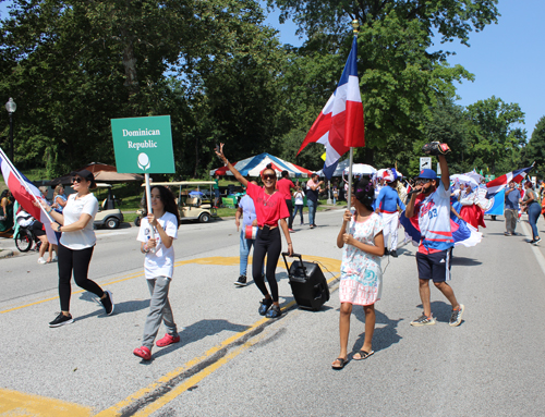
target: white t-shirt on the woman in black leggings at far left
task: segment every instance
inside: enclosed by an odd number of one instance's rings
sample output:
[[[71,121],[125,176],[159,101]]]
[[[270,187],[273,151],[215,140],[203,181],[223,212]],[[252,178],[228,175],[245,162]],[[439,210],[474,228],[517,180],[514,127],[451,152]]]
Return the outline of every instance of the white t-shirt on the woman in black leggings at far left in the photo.
[[[83,213],[89,214],[90,220],[87,225],[75,232],[63,232],[61,236],[62,246],[68,247],[72,250],[82,250],[87,247],[95,246],[97,238],[95,236],[95,231],[93,230],[93,221],[98,212],[98,200],[93,195],[93,193],[87,194],[84,197],[75,198],[75,194],[71,194],[62,210],[62,216],[64,216],[64,224],[70,225],[75,223]]]

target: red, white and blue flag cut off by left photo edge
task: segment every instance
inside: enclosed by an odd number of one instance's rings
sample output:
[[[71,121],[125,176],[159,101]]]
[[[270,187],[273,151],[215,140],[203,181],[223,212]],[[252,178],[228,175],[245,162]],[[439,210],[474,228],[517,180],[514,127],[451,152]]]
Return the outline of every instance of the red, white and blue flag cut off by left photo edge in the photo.
[[[40,198],[41,193],[36,185],[34,185],[25,175],[13,167],[1,148],[0,169],[2,170],[3,181],[5,182],[8,188],[10,188],[13,197],[28,214],[44,223],[48,242],[57,245],[57,236],[51,229],[51,220],[47,217],[43,209],[34,206],[35,196],[36,198]]]

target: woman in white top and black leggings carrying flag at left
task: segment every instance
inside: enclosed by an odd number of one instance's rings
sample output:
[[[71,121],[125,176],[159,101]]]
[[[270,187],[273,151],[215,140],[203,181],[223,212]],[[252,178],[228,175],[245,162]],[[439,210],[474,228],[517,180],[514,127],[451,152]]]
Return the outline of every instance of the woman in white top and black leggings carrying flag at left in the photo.
[[[92,292],[100,298],[100,303],[109,316],[113,312],[113,302],[109,291],[87,278],[90,258],[96,244],[93,221],[98,211],[98,200],[90,193],[96,188],[95,177],[87,170],[72,172],[72,188],[76,192],[68,198],[62,213],[55,211],[46,203],[41,203],[44,210],[56,222],[51,228],[60,232],[59,241],[59,298],[61,312],[49,323],[50,328],[69,324],[74,321],[70,314],[70,296],[72,289],[70,280],[72,272],[75,283],[84,290]]]

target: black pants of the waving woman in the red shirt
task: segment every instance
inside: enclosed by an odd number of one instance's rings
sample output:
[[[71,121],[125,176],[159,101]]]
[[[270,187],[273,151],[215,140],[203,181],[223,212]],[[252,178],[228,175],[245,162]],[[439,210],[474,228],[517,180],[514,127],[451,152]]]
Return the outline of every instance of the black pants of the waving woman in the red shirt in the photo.
[[[282,250],[282,241],[280,238],[280,228],[270,230],[265,226],[257,232],[254,243],[254,257],[252,261],[252,275],[254,282],[263,295],[267,295],[268,291],[263,279],[263,262],[267,255],[267,268],[265,274],[270,287],[270,296],[274,302],[278,302],[278,283],[276,282],[276,266],[280,252]]]

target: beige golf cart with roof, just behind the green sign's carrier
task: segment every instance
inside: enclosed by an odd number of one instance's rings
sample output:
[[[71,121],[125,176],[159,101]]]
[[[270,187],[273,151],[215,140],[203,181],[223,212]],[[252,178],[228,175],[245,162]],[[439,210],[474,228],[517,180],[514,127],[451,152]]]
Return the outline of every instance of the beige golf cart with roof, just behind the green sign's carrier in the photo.
[[[152,183],[154,185],[164,185],[170,188],[175,197],[180,220],[198,220],[201,223],[207,223],[211,218],[218,217],[217,210],[211,207],[211,200],[208,195],[201,191],[202,186],[211,187],[214,181],[178,181],[171,183]],[[142,185],[143,187],[146,184]],[[177,189],[178,188],[178,189]],[[134,224],[140,226],[141,219],[146,216],[146,209],[141,208],[136,211],[138,217]]]

